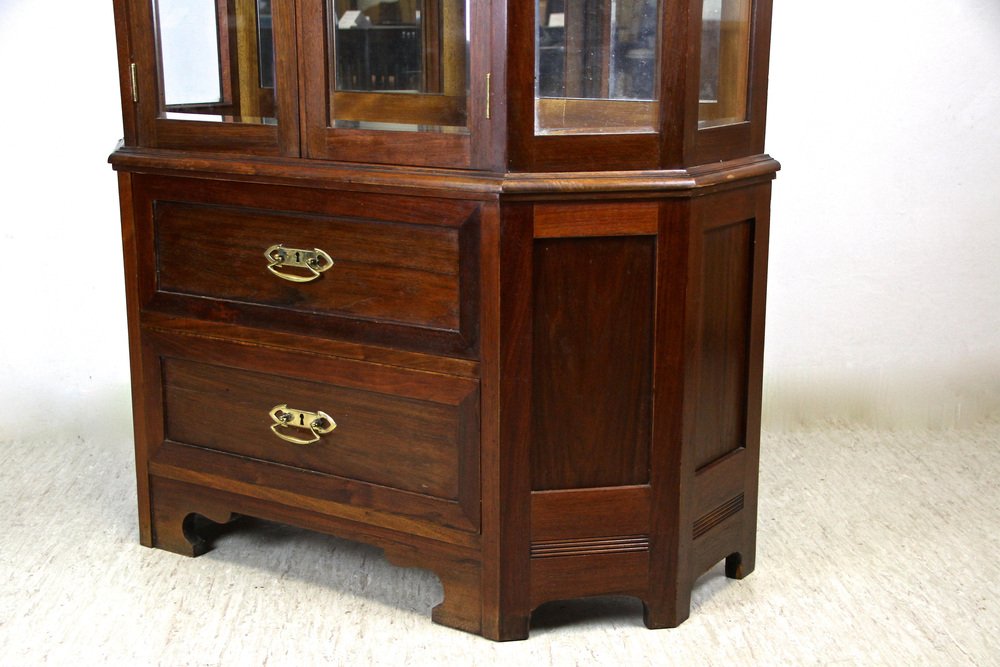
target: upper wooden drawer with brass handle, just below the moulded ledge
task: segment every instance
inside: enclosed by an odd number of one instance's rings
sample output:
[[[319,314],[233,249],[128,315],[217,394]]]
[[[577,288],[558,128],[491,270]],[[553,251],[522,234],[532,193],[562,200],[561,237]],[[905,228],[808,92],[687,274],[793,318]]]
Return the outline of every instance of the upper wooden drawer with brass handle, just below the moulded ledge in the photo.
[[[188,179],[136,192],[147,308],[472,356],[477,203]]]

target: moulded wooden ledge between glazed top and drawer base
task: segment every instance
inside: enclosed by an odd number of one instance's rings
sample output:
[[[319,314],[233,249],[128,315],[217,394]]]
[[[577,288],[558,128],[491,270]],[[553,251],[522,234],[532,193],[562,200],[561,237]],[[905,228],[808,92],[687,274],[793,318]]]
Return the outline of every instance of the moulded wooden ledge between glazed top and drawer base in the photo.
[[[137,148],[121,143],[108,161],[116,170],[138,173],[329,189],[419,190],[426,194],[483,199],[493,199],[499,195],[678,193],[749,179],[771,179],[781,168],[769,155],[755,155],[688,169],[498,174],[301,158],[196,153]]]

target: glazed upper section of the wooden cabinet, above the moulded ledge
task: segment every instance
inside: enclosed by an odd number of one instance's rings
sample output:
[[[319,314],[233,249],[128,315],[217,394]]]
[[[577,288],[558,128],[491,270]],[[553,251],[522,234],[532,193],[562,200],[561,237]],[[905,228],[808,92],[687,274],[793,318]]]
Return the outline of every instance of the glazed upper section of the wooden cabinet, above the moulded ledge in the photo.
[[[114,0],[120,152],[700,187],[764,155],[772,1]]]

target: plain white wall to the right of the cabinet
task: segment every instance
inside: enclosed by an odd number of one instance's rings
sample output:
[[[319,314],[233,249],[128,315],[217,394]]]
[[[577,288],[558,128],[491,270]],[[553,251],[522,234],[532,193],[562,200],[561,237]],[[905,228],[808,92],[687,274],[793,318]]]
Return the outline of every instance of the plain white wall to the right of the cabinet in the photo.
[[[1000,404],[1000,2],[775,0],[768,423]]]

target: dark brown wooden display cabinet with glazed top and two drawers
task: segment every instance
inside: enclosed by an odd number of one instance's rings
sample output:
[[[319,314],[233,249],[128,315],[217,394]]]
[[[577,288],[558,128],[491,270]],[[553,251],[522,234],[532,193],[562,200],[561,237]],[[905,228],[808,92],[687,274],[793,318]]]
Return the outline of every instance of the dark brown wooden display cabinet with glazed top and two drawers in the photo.
[[[384,548],[434,620],[754,565],[770,0],[115,0],[140,539]]]

